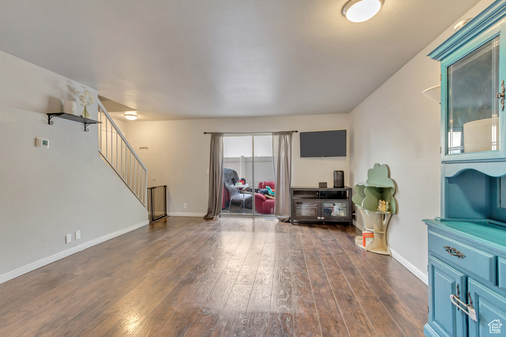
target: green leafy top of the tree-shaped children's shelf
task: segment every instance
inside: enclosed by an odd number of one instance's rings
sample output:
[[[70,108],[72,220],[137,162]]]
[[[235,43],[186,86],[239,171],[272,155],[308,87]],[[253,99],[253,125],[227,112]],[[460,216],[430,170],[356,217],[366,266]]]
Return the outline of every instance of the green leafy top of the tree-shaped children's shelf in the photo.
[[[387,165],[374,164],[374,167],[367,171],[367,181],[359,182],[355,185],[355,195],[352,197],[353,203],[368,211],[377,211],[378,201],[388,201],[389,211],[395,214],[397,211],[395,203],[395,184],[388,176]]]

